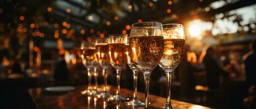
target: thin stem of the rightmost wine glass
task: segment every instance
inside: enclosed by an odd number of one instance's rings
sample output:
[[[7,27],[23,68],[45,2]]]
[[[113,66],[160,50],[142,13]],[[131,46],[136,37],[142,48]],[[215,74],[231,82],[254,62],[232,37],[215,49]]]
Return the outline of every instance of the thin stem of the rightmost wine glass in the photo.
[[[171,87],[171,78],[172,78],[172,71],[166,70],[166,77],[167,77],[167,99],[166,99],[166,106],[172,107],[170,104],[170,87]]]

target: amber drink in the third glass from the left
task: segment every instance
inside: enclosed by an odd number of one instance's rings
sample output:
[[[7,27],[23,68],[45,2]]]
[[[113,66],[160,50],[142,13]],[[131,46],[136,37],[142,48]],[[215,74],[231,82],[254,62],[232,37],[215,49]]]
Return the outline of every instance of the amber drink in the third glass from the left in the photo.
[[[115,68],[121,68],[127,63],[128,49],[124,44],[109,44],[109,57],[110,63]]]

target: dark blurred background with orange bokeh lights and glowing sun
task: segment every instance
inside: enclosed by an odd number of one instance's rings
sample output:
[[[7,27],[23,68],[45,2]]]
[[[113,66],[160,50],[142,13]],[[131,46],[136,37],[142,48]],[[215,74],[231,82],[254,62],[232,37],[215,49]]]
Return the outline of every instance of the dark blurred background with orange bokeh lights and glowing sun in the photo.
[[[255,108],[256,70],[246,69],[256,65],[254,0],[2,0],[0,104],[32,108],[27,89],[56,86],[58,75],[64,77],[62,85],[87,85],[81,41],[129,34],[133,23],[144,21],[184,25],[186,54],[173,74],[172,99]],[[121,87],[132,90],[132,70],[123,69]],[[108,73],[108,83],[115,85],[111,66]],[[166,97],[166,75],[159,66],[150,82],[150,94]],[[138,90],[144,92],[142,74]]]

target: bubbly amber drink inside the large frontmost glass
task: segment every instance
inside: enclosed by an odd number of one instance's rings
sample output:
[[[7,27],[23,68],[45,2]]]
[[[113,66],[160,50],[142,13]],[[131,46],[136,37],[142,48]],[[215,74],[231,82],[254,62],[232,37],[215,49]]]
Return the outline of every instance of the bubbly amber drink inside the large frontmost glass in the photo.
[[[164,41],[159,36],[130,37],[129,54],[141,71],[152,71],[163,56]]]

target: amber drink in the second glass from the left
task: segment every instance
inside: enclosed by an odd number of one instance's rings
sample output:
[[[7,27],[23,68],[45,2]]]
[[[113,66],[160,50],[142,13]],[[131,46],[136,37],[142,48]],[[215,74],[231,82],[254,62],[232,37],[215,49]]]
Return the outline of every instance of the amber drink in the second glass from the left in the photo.
[[[95,54],[101,66],[105,66],[109,62],[109,53],[107,44],[98,44],[95,46]]]

